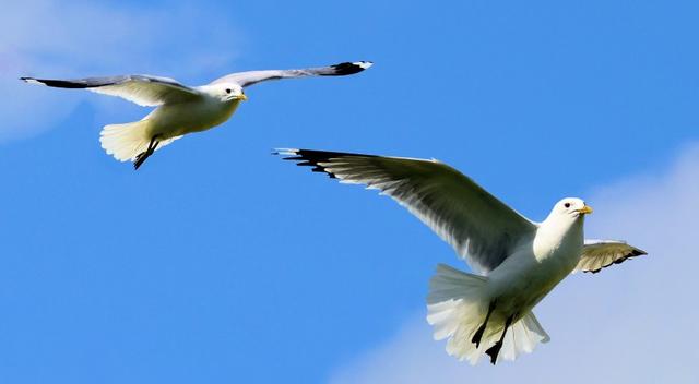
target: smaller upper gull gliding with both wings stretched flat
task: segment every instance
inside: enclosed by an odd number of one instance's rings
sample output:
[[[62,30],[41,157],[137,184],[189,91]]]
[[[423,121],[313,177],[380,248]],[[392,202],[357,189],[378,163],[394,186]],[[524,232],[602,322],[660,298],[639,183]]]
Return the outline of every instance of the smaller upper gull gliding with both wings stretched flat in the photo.
[[[370,61],[300,70],[248,71],[225,75],[201,86],[187,86],[168,77],[119,75],[75,80],[20,77],[24,82],[59,88],[85,88],[118,96],[144,107],[157,107],[140,121],[106,125],[99,141],[117,160],[133,161],[139,169],[156,149],[181,136],[212,129],[233,116],[242,100],[244,89],[268,80],[306,76],[343,76],[362,72]]]

